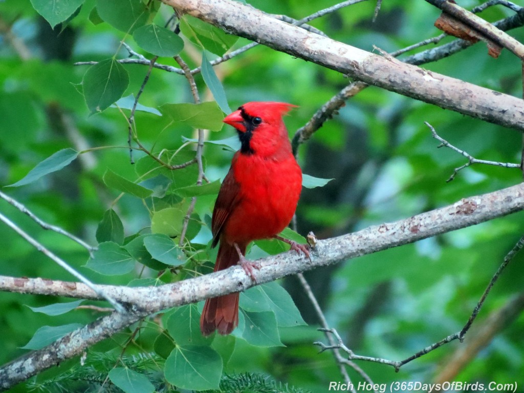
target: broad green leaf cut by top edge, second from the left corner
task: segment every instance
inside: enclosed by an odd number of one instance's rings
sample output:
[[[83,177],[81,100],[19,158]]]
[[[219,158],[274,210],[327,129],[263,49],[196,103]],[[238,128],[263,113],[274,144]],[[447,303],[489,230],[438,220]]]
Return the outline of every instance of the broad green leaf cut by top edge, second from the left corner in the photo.
[[[149,17],[149,12],[141,0],[98,0],[96,10],[106,23],[126,33],[132,33],[136,28],[144,26]]]

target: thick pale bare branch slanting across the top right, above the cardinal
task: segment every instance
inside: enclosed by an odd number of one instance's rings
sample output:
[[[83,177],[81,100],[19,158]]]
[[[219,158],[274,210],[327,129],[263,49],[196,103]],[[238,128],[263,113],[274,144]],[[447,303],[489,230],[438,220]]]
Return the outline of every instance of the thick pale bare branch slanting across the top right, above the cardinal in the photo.
[[[241,37],[414,99],[505,127],[524,129],[524,102],[366,52],[264,15],[232,0],[163,0]]]

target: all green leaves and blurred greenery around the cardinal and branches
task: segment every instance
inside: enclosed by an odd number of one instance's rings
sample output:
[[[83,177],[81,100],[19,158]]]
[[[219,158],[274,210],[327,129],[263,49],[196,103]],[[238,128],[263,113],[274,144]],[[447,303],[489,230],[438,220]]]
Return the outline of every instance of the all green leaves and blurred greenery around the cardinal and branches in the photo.
[[[23,179],[32,168],[61,149],[92,149],[78,157],[74,155],[76,159],[57,172],[20,187],[2,190],[43,220],[63,227],[92,245],[100,243],[99,253],[107,248],[131,257],[126,263],[118,264],[115,270],[108,271],[107,267],[97,267],[96,256],[89,259],[85,249],[63,236],[41,230],[4,201],[0,203],[0,211],[97,283],[161,285],[191,277],[195,271],[211,271],[216,250],[210,249],[208,244],[209,217],[219,184],[213,181],[225,176],[232,157],[231,147],[205,145],[205,174],[212,183],[205,186],[205,191],[198,191],[192,187],[198,173],[194,165],[170,171],[157,166],[143,152],[135,152],[136,163],[131,165],[125,148],[128,136],[125,116],[129,111],[124,109],[124,103],[121,110],[109,107],[121,96],[136,96],[147,72],[145,65],[120,65],[114,61],[129,56],[121,40],[148,59],[153,56],[150,52],[162,50],[157,53],[161,56],[157,61],[178,67],[169,57],[181,50],[181,43],[176,38],[168,35],[167,43],[159,48],[158,45],[148,47],[147,36],[140,35],[150,33],[147,29],[140,30],[140,23],[154,23],[162,28],[171,10],[154,2],[149,5],[150,13],[137,17],[126,14],[131,2],[99,2],[105,4],[98,7],[94,0],[85,0],[83,4],[70,2],[73,11],[81,4],[82,7],[67,23],[60,24],[71,13],[64,10],[63,15],[51,12],[51,16],[46,16],[49,11],[45,7],[42,10],[44,3],[7,0],[0,4],[0,185]],[[332,5],[319,0],[253,0],[249,3],[265,12],[297,19]],[[478,4],[472,0],[461,2],[464,7]],[[122,7],[122,12],[116,12],[115,7]],[[384,1],[377,20],[372,23],[374,7],[374,2],[356,4],[314,20],[311,25],[336,40],[369,51],[374,45],[393,51],[439,34],[433,27],[439,12],[428,3]],[[489,8],[482,14],[490,21],[509,15],[511,12],[501,7]],[[138,19],[140,23],[126,23],[129,18]],[[50,23],[57,25],[54,30]],[[190,18],[184,19],[181,28],[184,37],[181,56],[190,68],[198,67],[202,58],[201,47],[191,41],[200,40],[208,50],[205,54],[208,60],[221,55],[224,45],[238,48],[248,43],[228,35],[206,38],[207,27]],[[198,40],[192,36],[195,31]],[[524,38],[522,29],[511,34],[520,41]],[[451,40],[446,38],[443,42]],[[100,65],[98,68],[73,65],[77,61],[103,60],[106,61],[103,65],[112,67],[111,72],[118,73],[109,97],[103,97],[100,86],[93,85],[103,75]],[[423,67],[500,92],[521,95],[521,67],[518,59],[506,50],[498,59],[492,59],[487,56],[486,47],[477,44]],[[286,118],[290,136],[349,82],[334,71],[262,46],[218,65],[215,72],[231,108],[248,101],[283,101],[299,105]],[[217,94],[220,96],[221,86],[212,74],[197,74],[195,78],[203,101],[213,101],[213,97],[220,101]],[[93,89],[99,101],[90,102],[88,97],[86,104],[82,94],[90,94],[86,89]],[[102,92],[107,91],[102,89]],[[180,149],[187,138],[196,138],[192,128],[195,124],[180,121],[180,107],[170,105],[192,102],[187,80],[182,75],[152,70],[140,97],[140,104],[145,108],[135,114],[140,143],[155,155],[162,152],[161,157],[167,158],[170,157],[168,152]],[[223,111],[227,111],[227,103],[219,102]],[[105,110],[98,113],[97,106]],[[206,109],[205,116],[199,120],[215,119],[211,125],[206,124],[206,128],[212,129],[206,139],[222,140],[234,136],[231,127],[221,127],[223,115],[219,106],[211,106],[214,109]],[[160,111],[162,116],[155,111]],[[474,166],[446,183],[453,169],[465,162],[464,158],[449,149],[436,149],[438,142],[431,138],[424,121],[433,125],[450,143],[476,158],[503,162],[520,160],[521,136],[515,130],[465,118],[371,87],[348,101],[339,115],[326,122],[300,147],[299,162],[305,173],[334,180],[325,187],[303,190],[297,211],[298,232],[306,234],[313,230],[319,238],[332,237],[521,181],[518,170]],[[192,159],[194,148],[194,143],[184,145],[171,157],[170,163]],[[149,183],[141,183],[143,187],[140,188],[131,185],[143,180]],[[126,192],[121,195],[124,190]],[[197,193],[195,213],[188,229],[192,242],[180,249],[176,247],[178,241],[173,243],[168,236],[180,235],[190,197]],[[462,328],[504,255],[522,235],[522,227],[522,214],[517,213],[336,267],[319,269],[307,278],[329,324],[340,332],[347,346],[358,354],[400,360]],[[148,236],[151,232],[156,235]],[[3,245],[0,274],[72,280],[5,225],[0,225],[0,238]],[[166,244],[172,247],[168,255],[162,248]],[[248,257],[257,258],[280,249],[277,243],[259,242]],[[158,255],[155,256],[155,252]],[[162,260],[160,255],[166,259]],[[518,255],[500,278],[474,329],[466,336],[466,342],[475,337],[476,330],[486,323],[490,313],[522,293],[523,258]],[[177,268],[169,269],[170,266]],[[203,357],[209,355],[205,357],[209,362],[203,370],[216,377],[214,389],[219,388],[217,378],[221,375],[255,372],[296,388],[328,391],[329,381],[342,380],[339,368],[329,351],[319,354],[319,348],[312,345],[314,341],[325,342],[325,337],[316,331],[318,319],[302,289],[293,279],[283,282],[283,286],[308,325],[301,325],[300,315],[293,323],[281,323],[273,305],[259,303],[267,292],[272,291],[278,299],[287,296],[274,285],[249,290],[241,303],[245,310],[242,319],[260,321],[257,326],[272,334],[272,343],[261,343],[257,341],[261,340],[260,336],[242,333],[215,337],[212,344],[200,342],[202,338],[197,336],[182,334],[176,337],[177,332],[183,331],[179,325],[193,326],[198,320],[201,305],[200,308],[191,305],[169,310],[97,344],[89,350],[91,363],[88,364],[93,367],[93,373],[101,373],[101,378],[116,366],[110,377],[117,386],[120,385],[116,381],[123,374],[135,376],[125,370],[138,374],[137,384],[144,385],[137,386],[145,386],[146,390],[151,386],[155,389],[165,387],[162,385],[164,377],[180,386],[177,378],[183,373],[173,371],[177,369],[173,365],[177,351],[188,350],[190,345],[206,346],[208,349],[196,353]],[[66,301],[69,300],[2,293],[0,363],[25,353],[27,350],[21,347],[42,326],[85,324],[96,318],[97,313],[91,310],[48,315],[29,308]],[[96,304],[104,305],[102,302]],[[286,304],[290,307],[289,312],[295,312],[291,300]],[[243,324],[241,321],[241,328]],[[137,327],[140,327],[138,333],[132,336]],[[457,370],[455,379],[472,383],[492,380],[524,383],[523,328],[524,320],[518,316],[464,368]],[[118,363],[122,346],[130,337],[133,342],[127,346],[127,357]],[[448,344],[402,367],[399,373],[380,364],[358,364],[376,383],[416,380],[429,383],[461,345],[465,344]],[[56,388],[64,379],[67,381],[63,373],[78,370],[78,362],[78,359],[71,359],[42,373],[36,381],[31,381],[31,386],[38,387],[49,378],[55,378],[52,379],[55,385],[45,386]],[[165,376],[155,373],[155,367],[162,369],[164,362],[169,365]],[[348,373],[353,381],[361,380],[352,369],[348,369]],[[62,379],[56,379],[60,376]],[[129,378],[127,380],[132,380]],[[149,380],[151,386],[147,385]],[[192,383],[184,381],[182,385],[187,389],[211,388]],[[120,387],[126,390],[125,384]],[[79,381],[74,389],[83,391],[84,388]],[[27,389],[23,384],[13,391]]]

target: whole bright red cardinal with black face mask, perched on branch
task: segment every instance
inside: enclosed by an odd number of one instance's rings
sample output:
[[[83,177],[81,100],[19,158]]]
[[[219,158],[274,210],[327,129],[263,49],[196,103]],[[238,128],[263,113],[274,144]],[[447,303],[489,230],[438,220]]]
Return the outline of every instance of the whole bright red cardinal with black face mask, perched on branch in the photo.
[[[224,118],[238,132],[241,148],[233,156],[211,220],[212,246],[220,241],[215,269],[241,264],[252,277],[259,266],[244,257],[257,239],[278,238],[298,253],[307,246],[277,236],[291,221],[302,189],[302,171],[291,152],[282,121],[295,105],[248,102]],[[238,292],[208,299],[200,318],[204,336],[230,334],[238,325]]]

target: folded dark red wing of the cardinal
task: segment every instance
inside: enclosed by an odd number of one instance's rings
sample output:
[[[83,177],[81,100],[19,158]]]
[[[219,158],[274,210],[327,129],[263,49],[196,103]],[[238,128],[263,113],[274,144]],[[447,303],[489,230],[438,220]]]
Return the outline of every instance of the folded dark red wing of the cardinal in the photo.
[[[220,187],[219,196],[216,198],[213,217],[211,219],[211,232],[213,233],[212,247],[219,242],[220,233],[226,223],[230,213],[239,202],[240,184],[237,183],[233,176],[233,168],[227,172],[222,186]]]

